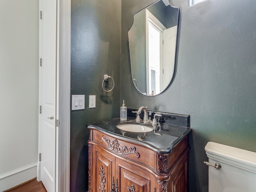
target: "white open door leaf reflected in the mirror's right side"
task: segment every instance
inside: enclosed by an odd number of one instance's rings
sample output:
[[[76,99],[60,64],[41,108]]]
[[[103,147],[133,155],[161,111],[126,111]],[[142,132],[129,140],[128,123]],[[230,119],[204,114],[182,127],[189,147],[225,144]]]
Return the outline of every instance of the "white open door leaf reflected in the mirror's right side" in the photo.
[[[164,62],[162,90],[168,86],[174,72],[177,26],[164,30]]]

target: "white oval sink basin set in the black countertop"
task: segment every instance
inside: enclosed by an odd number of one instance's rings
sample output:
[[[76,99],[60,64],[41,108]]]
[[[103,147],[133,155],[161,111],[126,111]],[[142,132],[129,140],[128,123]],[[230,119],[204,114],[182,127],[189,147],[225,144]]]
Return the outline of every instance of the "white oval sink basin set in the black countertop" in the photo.
[[[150,132],[153,128],[150,125],[124,123],[118,124],[117,128],[130,132]]]

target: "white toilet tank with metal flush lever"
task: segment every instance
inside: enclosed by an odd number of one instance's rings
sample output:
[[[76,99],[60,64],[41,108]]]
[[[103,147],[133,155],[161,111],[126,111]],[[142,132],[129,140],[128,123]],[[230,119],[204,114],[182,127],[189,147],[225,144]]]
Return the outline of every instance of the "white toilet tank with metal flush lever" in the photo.
[[[205,151],[208,166],[209,192],[256,192],[256,153],[208,142]]]

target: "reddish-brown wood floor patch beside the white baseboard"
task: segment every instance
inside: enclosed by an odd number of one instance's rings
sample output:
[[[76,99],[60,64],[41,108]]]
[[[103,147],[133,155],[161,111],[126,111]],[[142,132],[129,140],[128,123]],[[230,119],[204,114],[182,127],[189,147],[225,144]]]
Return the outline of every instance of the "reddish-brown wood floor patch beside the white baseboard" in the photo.
[[[4,192],[47,192],[42,181],[38,182],[36,178],[8,189]]]

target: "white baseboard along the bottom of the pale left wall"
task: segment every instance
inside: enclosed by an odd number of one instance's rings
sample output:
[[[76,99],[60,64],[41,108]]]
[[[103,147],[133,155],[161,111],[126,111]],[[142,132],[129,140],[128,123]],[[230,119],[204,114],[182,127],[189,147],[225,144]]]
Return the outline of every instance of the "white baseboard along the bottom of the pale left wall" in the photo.
[[[37,163],[0,175],[0,191],[5,191],[36,177]]]

